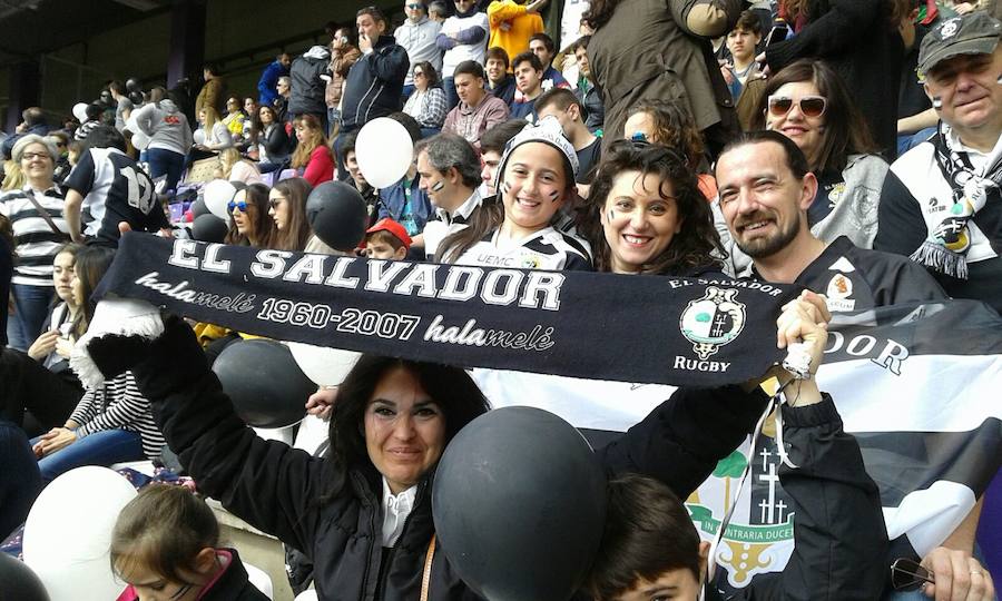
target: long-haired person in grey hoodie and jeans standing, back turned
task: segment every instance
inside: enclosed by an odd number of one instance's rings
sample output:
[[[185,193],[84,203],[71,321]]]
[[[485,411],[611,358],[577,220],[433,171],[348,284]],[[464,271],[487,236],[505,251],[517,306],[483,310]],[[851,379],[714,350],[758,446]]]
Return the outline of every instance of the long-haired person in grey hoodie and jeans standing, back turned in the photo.
[[[167,90],[156,87],[149,91],[150,101],[136,109],[139,131],[149,138],[146,158],[154,179],[166,176],[166,190],[176,190],[185,169],[185,155],[194,144],[188,118],[180,111]]]

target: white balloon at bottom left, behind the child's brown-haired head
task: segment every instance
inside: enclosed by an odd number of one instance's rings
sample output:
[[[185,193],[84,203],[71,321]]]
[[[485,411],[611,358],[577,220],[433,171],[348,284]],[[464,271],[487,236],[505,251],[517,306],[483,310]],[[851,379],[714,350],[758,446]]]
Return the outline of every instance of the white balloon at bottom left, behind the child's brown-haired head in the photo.
[[[94,465],[66,472],[38,495],[24,524],[24,563],[51,599],[118,598],[125,584],[108,549],[119,512],[135,497],[128,480]]]

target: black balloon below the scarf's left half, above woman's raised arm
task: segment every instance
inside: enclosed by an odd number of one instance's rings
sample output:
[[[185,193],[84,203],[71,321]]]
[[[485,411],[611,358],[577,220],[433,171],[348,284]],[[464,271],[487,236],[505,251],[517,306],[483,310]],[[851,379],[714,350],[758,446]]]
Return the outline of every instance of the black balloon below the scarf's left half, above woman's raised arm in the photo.
[[[274,341],[253,339],[227,346],[213,372],[233,401],[237,414],[255,427],[285,427],[306,413],[306,398],[316,392],[289,353]]]

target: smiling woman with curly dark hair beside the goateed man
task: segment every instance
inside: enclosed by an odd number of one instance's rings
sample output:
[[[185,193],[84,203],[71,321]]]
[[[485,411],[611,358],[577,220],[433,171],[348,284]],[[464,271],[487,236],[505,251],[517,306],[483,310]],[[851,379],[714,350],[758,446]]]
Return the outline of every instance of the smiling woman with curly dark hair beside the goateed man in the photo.
[[[692,277],[720,270],[720,239],[688,159],[660,145],[612,142],[578,231],[591,243],[599,272]]]

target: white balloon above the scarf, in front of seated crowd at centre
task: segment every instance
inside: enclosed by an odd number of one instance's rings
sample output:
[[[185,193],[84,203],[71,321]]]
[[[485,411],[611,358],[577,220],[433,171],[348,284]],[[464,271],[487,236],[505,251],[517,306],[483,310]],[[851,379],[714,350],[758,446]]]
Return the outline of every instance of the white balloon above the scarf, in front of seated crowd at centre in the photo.
[[[396,184],[407,173],[413,158],[414,142],[401,122],[380,117],[358,130],[355,159],[370,186],[386,188]]]

